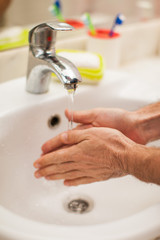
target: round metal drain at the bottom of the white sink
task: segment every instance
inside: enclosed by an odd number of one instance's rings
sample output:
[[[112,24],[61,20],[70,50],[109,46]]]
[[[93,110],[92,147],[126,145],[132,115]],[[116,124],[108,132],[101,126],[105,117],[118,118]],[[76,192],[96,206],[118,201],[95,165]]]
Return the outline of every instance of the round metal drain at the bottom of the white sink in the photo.
[[[65,204],[65,209],[72,213],[87,213],[93,209],[93,202],[88,198],[75,198]]]

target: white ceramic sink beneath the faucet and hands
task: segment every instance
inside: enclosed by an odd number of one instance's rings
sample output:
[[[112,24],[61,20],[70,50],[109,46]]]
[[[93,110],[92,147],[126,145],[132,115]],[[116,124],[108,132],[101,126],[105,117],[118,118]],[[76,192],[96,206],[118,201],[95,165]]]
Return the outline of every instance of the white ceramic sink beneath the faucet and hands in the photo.
[[[159,83],[157,83],[159,84]],[[159,89],[124,72],[106,71],[98,86],[81,85],[74,109],[134,110],[159,97]],[[67,94],[52,82],[46,94],[25,92],[25,78],[0,85],[0,239],[149,240],[160,235],[160,187],[126,176],[78,187],[35,179],[41,145],[67,130]],[[152,143],[160,146],[160,141]],[[71,212],[81,199],[89,208]]]

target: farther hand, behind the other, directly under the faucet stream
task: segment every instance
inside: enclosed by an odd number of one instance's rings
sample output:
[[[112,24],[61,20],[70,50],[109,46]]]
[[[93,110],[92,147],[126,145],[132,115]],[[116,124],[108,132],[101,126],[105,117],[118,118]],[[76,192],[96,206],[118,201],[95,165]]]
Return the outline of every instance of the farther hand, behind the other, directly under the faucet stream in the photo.
[[[66,110],[65,115],[68,120],[71,120],[71,112]],[[129,112],[119,108],[96,108],[86,111],[74,111],[73,121],[79,123],[76,129],[89,127],[114,128],[136,143],[147,143],[141,125],[138,124],[136,112]]]

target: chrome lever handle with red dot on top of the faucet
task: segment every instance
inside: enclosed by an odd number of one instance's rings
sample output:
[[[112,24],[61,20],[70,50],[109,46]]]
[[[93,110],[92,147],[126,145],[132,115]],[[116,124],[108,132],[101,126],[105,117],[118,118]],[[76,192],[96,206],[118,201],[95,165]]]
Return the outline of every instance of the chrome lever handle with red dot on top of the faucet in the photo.
[[[71,31],[74,28],[64,22],[41,23],[29,32],[29,44],[31,47],[49,50],[54,47],[57,31]]]

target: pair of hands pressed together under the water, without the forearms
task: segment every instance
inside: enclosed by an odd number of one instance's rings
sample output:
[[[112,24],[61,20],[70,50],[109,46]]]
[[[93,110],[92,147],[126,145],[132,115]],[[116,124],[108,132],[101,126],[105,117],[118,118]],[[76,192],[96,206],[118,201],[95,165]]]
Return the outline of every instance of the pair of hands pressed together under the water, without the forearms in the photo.
[[[65,115],[71,119],[68,110]],[[79,125],[42,146],[43,154],[34,162],[35,177],[64,179],[65,185],[76,186],[126,175],[136,142],[146,143],[136,119],[122,109],[74,112]]]

